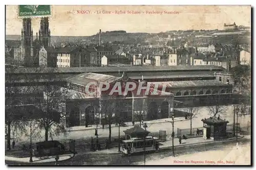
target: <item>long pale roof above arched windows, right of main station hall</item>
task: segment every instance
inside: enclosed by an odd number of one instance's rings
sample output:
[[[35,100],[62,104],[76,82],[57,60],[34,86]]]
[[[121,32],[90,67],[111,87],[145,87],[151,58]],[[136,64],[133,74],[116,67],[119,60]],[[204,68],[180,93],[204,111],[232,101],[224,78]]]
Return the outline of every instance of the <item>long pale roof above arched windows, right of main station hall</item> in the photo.
[[[190,80],[190,81],[170,81],[170,82],[147,82],[154,87],[158,84],[158,87],[195,87],[195,86],[226,86],[218,80]]]

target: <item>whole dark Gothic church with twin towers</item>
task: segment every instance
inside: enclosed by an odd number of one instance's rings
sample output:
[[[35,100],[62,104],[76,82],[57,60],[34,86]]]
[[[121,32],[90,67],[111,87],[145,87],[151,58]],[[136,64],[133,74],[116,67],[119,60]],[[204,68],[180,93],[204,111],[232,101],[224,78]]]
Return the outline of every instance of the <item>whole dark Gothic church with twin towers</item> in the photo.
[[[31,18],[23,18],[20,45],[13,48],[13,57],[26,67],[37,67],[39,66],[40,48],[42,46],[51,46],[51,31],[49,29],[48,17],[42,17],[40,19],[40,29],[36,33],[35,39],[31,25]]]

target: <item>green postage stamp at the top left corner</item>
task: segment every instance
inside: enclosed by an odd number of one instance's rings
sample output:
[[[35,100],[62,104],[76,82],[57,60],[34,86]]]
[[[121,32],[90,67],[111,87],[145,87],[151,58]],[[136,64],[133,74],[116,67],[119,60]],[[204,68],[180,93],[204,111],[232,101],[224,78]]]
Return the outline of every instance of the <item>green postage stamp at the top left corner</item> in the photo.
[[[52,14],[51,5],[19,5],[19,17],[50,16]]]

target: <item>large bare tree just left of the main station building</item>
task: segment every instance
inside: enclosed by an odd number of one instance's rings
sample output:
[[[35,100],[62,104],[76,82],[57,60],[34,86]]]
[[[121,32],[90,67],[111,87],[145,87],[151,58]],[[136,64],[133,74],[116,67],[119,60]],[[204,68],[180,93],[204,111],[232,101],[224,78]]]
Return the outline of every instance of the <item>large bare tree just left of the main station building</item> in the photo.
[[[65,81],[54,74],[54,68],[34,68],[41,75],[44,69],[51,69],[50,74],[45,77],[36,76],[34,80],[34,91],[38,95],[43,94],[43,99],[35,99],[41,116],[36,119],[39,129],[45,131],[45,141],[48,141],[49,135],[59,135],[66,131],[66,99],[70,97],[70,91]],[[49,71],[49,70],[48,70]],[[44,84],[40,84],[44,81]]]

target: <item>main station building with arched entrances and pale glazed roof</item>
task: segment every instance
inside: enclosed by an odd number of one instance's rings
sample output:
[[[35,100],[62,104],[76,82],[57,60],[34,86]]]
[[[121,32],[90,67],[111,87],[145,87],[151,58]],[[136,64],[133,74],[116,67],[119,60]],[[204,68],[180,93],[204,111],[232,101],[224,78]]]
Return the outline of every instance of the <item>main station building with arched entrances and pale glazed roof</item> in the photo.
[[[95,92],[89,95],[86,86],[89,83],[99,82],[108,83],[110,88],[105,91],[100,91],[99,85],[91,85],[90,92]],[[115,84],[119,82],[122,88],[122,94],[117,92],[110,95],[112,88],[116,88]],[[150,88],[150,93],[146,94],[145,90],[141,90],[137,94],[138,86],[124,93],[124,87],[127,82],[136,82],[130,79],[125,72],[122,77],[114,77],[109,75],[94,74],[91,72],[83,73],[67,79],[67,83],[71,92],[70,99],[67,101],[67,126],[88,126],[95,124],[95,117],[104,117],[105,110],[113,106],[113,113],[118,113],[123,122],[132,122],[138,111],[143,112],[144,120],[168,118],[173,113],[173,95],[169,92],[160,92],[159,95],[152,95],[153,89]],[[110,96],[113,96],[111,98]],[[108,103],[108,102],[111,102]],[[140,107],[138,107],[140,106]],[[161,107],[162,112],[158,112]],[[102,110],[101,110],[102,109]]]

